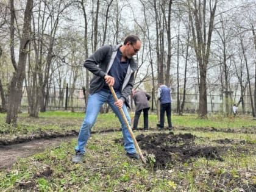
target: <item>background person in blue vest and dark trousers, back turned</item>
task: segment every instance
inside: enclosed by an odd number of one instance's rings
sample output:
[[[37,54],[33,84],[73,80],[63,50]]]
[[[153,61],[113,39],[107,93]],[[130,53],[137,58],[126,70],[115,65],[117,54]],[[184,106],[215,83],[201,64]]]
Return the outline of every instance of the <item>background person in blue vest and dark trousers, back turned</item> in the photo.
[[[158,130],[163,130],[165,126],[165,112],[168,121],[168,129],[172,129],[171,123],[171,89],[162,83],[158,84],[157,98],[160,101],[160,124]]]

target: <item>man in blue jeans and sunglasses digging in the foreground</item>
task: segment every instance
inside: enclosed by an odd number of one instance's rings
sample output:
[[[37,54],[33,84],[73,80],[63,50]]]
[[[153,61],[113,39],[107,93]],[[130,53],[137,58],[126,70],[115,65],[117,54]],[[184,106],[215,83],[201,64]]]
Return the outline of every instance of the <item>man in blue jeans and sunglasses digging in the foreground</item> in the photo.
[[[137,63],[132,56],[137,54],[140,47],[140,39],[136,35],[129,35],[123,45],[102,46],[85,60],[84,66],[93,73],[93,79],[90,82],[87,111],[80,127],[73,162],[79,163],[84,157],[84,148],[90,137],[91,127],[105,102],[112,108],[121,123],[126,155],[130,158],[138,158],[132,137],[130,137],[119,108],[123,108],[127,121],[130,123],[126,105],[129,107],[129,95],[132,92],[134,73],[137,69]],[[108,86],[113,86],[118,101],[115,102]]]

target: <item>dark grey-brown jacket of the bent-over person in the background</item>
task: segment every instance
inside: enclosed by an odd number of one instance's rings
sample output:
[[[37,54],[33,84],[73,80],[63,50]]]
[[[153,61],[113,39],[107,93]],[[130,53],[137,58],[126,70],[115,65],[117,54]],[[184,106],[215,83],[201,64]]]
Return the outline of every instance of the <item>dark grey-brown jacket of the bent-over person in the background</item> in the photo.
[[[135,91],[133,100],[136,105],[136,112],[143,108],[149,108],[149,99],[151,96],[144,91]]]

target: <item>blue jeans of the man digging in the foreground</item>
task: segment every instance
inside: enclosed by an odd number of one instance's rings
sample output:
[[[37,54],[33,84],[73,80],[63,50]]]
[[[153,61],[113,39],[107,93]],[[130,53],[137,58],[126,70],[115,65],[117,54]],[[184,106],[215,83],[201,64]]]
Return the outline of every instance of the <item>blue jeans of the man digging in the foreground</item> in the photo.
[[[120,93],[116,92],[116,96],[119,98]],[[129,152],[130,154],[135,153],[135,146],[133,144],[132,137],[130,137],[129,130],[127,129],[123,116],[119,112],[119,108],[115,105],[115,99],[113,98],[111,91],[105,89],[99,91],[98,93],[89,95],[86,115],[80,128],[78,136],[78,145],[76,146],[75,150],[80,151],[83,154],[85,153],[84,148],[87,144],[88,138],[90,138],[91,127],[93,127],[98,116],[99,110],[105,102],[107,102],[107,104],[112,108],[113,112],[115,112],[116,116],[118,117],[121,123],[124,138],[124,149],[126,150],[126,152]],[[126,115],[127,121],[130,124],[130,116],[125,104],[123,105],[123,111]]]

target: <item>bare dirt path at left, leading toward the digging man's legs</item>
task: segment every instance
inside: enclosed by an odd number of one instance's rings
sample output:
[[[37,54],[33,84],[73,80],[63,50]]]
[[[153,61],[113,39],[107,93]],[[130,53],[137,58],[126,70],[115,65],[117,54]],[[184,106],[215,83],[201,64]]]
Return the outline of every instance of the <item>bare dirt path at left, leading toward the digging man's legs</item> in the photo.
[[[6,169],[13,165],[18,158],[29,157],[38,152],[44,151],[44,149],[59,146],[63,141],[71,141],[76,137],[59,137],[51,139],[41,139],[35,141],[29,141],[26,143],[10,144],[8,146],[1,146],[0,148],[0,170]]]

